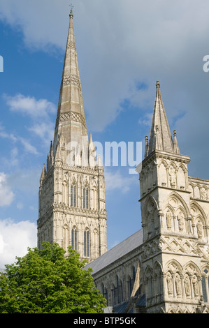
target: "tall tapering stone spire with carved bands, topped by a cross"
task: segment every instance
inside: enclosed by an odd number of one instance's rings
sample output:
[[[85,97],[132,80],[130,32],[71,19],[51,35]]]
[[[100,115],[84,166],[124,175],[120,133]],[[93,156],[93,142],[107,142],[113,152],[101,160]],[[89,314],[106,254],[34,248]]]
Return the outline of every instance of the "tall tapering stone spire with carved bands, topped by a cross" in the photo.
[[[69,34],[66,43],[53,142],[54,156],[56,155],[59,140],[64,140],[66,149],[69,149],[69,143],[74,143],[73,147],[76,149],[78,149],[78,144],[80,144],[81,149],[85,147],[85,149],[82,149],[82,154],[88,151],[87,126],[82,100],[78,57],[75,47],[72,10],[69,16]],[[62,147],[62,144],[60,147]]]

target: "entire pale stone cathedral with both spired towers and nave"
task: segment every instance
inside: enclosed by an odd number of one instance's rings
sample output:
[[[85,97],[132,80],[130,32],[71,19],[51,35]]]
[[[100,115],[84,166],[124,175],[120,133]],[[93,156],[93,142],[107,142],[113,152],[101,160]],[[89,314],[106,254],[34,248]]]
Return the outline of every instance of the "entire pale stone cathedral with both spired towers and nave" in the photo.
[[[88,138],[70,13],[54,140],[39,188],[38,247],[88,260],[106,313],[209,313],[209,180],[190,177],[159,81],[140,180],[142,229],[107,251],[104,168]],[[137,200],[138,195],[136,195]]]

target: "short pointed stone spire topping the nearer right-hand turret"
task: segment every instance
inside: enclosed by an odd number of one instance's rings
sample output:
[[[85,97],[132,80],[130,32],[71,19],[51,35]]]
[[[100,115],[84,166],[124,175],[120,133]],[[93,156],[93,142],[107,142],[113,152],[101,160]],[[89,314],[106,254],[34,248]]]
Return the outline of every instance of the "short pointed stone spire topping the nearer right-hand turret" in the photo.
[[[169,153],[180,154],[177,140],[174,142],[171,137],[171,131],[168,125],[164,103],[161,98],[159,81],[156,83],[157,91],[154,103],[154,110],[152,114],[152,124],[150,129],[149,144],[146,146],[145,157],[148,156],[155,149],[161,151],[168,151]],[[147,140],[146,140],[147,143]]]

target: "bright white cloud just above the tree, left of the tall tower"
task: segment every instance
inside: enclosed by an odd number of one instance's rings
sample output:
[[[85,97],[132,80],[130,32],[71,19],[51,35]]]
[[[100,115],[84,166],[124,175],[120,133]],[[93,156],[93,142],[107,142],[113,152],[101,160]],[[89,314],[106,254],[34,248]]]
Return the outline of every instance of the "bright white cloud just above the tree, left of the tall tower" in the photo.
[[[29,221],[0,220],[0,269],[22,257],[27,248],[36,247],[36,224]]]

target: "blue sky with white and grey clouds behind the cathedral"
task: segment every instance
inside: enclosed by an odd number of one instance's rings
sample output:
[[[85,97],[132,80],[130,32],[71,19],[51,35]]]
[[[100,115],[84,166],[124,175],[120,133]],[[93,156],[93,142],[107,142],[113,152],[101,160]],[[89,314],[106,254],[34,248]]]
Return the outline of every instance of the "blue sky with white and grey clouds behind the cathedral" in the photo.
[[[88,133],[143,142],[155,83],[189,175],[209,179],[208,1],[76,0],[73,24]],[[38,188],[53,137],[69,1],[0,0],[0,268],[36,246]],[[108,248],[140,228],[129,167],[106,167]]]

